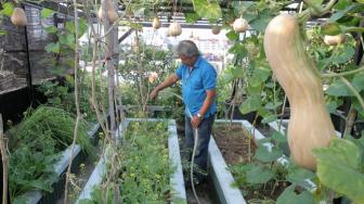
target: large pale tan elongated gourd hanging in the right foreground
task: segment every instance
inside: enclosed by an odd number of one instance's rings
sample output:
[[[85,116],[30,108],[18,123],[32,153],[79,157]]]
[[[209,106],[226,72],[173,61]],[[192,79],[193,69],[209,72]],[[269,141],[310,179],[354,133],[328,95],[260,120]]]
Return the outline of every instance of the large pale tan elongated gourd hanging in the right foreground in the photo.
[[[268,25],[264,51],[290,104],[288,144],[294,161],[314,170],[312,149],[328,146],[335,129],[324,102],[323,86],[308,56],[296,17],[281,14]]]

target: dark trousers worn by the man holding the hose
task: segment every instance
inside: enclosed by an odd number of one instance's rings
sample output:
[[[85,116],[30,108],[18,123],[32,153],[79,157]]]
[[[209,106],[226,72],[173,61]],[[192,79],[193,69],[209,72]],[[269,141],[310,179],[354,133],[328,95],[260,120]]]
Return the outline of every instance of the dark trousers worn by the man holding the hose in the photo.
[[[214,122],[214,114],[210,115],[207,118],[204,118],[198,127],[198,141],[194,157],[194,164],[198,167],[197,170],[194,170],[197,180],[203,179],[207,173],[207,157],[208,157],[208,146],[211,137],[212,125]],[[185,144],[191,154],[188,158],[192,157],[192,150],[195,144],[195,130],[192,128],[191,118],[185,116]],[[202,170],[202,171],[200,171]]]

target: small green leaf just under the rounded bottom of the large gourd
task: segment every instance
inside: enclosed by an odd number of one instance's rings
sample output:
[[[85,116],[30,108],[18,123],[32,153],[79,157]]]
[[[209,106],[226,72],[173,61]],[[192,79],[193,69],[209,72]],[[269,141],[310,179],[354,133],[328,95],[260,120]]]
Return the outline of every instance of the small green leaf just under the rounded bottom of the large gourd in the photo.
[[[301,187],[304,187],[308,190],[312,189],[312,184],[308,182],[308,179],[313,179],[315,178],[316,175],[310,170],[307,170],[304,168],[290,168],[287,180],[291,182],[292,184],[298,184]]]

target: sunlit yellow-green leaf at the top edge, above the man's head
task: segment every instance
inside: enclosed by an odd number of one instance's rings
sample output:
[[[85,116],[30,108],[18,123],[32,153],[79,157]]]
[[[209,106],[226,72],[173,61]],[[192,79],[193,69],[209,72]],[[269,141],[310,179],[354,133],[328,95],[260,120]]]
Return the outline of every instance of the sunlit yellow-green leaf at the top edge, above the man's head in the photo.
[[[192,0],[195,12],[200,17],[208,20],[218,20],[221,17],[221,8],[217,2],[210,2],[208,0]]]

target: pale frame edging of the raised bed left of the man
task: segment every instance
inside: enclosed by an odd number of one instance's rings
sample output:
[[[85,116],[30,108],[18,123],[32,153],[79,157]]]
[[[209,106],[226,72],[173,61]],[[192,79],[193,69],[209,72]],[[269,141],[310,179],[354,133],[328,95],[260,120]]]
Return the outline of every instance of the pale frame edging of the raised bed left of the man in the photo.
[[[117,131],[118,141],[121,141],[121,138],[126,137],[126,132],[122,132],[123,129],[127,129],[128,126],[133,122],[162,122],[160,119],[145,119],[145,118],[126,118],[121,126],[119,126]],[[177,138],[177,128],[176,122],[172,119],[168,122],[168,155],[169,160],[171,161],[170,166],[171,169],[176,169],[173,174],[169,178],[169,183],[172,188],[172,192],[169,193],[172,197],[171,201],[178,201],[179,203],[186,203],[186,195],[184,189],[184,180],[182,175],[182,165],[181,165],[181,157],[179,151],[179,143]],[[104,154],[105,155],[105,154]],[[105,164],[108,163],[108,157],[103,156],[100,162],[98,163],[95,169],[93,170],[90,179],[88,180],[87,184],[84,186],[82,192],[80,193],[76,203],[87,203],[90,201],[93,194],[93,191],[103,182],[103,178],[106,174]]]

